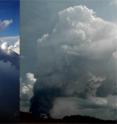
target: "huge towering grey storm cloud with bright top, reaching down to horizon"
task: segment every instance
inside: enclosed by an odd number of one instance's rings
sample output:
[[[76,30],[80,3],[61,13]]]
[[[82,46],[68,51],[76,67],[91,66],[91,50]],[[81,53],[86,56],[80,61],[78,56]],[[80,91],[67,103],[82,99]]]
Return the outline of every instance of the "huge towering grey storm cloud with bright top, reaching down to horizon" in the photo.
[[[61,89],[62,96],[53,94],[52,117],[62,118],[71,113],[117,118],[116,107],[113,110],[116,103],[112,104],[117,99],[116,50],[115,23],[97,17],[93,10],[82,5],[58,13],[52,32],[38,39],[40,78],[35,89],[43,92],[47,88]],[[44,104],[48,105],[46,100]],[[68,108],[64,109],[66,100]]]

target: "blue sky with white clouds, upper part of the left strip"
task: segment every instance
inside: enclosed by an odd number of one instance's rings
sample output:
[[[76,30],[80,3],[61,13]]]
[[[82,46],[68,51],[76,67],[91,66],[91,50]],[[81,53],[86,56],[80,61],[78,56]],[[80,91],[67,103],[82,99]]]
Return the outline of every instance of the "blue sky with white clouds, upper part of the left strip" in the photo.
[[[19,0],[0,1],[0,47],[19,54]]]

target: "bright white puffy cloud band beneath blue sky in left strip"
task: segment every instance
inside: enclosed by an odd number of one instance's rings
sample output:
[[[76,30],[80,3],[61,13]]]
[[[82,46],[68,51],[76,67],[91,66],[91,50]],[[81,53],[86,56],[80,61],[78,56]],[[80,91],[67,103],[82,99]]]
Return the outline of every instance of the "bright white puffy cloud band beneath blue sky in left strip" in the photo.
[[[1,37],[0,38],[0,47],[7,53],[10,53],[11,50],[20,54],[20,39],[19,36],[13,37]]]

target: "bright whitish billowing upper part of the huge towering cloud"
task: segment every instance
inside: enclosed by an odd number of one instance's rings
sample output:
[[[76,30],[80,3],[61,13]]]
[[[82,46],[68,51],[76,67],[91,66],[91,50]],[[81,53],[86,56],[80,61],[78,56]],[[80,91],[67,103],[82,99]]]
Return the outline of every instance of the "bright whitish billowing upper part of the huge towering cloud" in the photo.
[[[49,46],[56,45],[57,50],[61,49],[64,54],[86,56],[91,59],[103,58],[104,55],[109,55],[108,52],[116,49],[117,25],[96,17],[87,7],[67,8],[59,12],[58,18],[53,32],[46,38],[44,35],[39,39],[43,41],[39,43],[41,48],[49,49]],[[49,53],[45,52],[46,54]]]

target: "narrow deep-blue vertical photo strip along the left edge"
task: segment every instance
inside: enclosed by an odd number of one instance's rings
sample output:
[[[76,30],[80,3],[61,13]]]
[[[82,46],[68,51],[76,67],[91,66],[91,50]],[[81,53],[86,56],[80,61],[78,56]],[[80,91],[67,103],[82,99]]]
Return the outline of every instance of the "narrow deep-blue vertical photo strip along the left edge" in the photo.
[[[19,0],[0,0],[0,123],[19,118]]]

